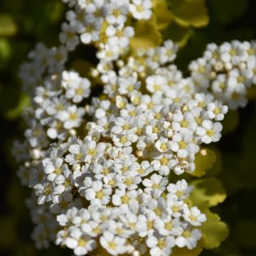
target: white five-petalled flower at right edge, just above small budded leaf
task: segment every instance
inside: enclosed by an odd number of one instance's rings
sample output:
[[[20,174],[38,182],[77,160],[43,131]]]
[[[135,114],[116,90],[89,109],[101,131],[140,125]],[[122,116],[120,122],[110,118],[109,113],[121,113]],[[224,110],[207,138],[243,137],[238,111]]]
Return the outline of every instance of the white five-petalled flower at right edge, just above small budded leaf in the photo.
[[[209,144],[210,142],[218,142],[220,140],[223,126],[220,122],[211,122],[210,120],[203,120],[202,126],[196,129],[201,142]]]

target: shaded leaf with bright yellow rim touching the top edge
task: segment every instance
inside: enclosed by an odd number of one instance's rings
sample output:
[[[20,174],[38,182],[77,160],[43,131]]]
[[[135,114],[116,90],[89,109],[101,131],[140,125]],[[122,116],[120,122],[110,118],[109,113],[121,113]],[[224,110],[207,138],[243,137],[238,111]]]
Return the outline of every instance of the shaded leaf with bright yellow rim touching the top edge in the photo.
[[[176,8],[171,9],[174,21],[180,26],[206,26],[209,22],[204,0],[183,1]]]

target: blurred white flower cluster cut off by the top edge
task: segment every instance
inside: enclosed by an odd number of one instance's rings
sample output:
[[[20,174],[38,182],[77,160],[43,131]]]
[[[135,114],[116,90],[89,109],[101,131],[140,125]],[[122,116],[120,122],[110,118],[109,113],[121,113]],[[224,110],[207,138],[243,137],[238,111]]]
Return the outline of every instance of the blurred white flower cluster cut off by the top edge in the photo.
[[[134,28],[125,26],[128,19],[149,19],[151,0],[94,0],[69,1],[74,10],[67,12],[60,42],[74,50],[78,43],[95,43],[97,57],[105,61],[117,60],[129,46]]]

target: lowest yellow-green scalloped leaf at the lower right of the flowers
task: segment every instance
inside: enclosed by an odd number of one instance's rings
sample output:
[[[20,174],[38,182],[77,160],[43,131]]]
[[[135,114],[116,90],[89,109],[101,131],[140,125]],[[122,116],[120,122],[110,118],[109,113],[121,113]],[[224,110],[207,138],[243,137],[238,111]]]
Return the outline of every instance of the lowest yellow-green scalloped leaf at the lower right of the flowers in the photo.
[[[220,243],[228,238],[228,225],[220,220],[220,216],[211,213],[210,210],[206,212],[206,222],[200,227],[205,244],[203,245],[206,249],[213,249],[220,246]]]

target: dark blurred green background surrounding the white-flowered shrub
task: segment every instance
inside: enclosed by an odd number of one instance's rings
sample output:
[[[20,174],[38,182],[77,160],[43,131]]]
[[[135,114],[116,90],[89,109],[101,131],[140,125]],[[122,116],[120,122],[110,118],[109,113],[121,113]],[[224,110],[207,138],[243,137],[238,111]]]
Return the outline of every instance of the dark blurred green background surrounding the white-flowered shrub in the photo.
[[[207,43],[256,39],[256,1],[206,0],[210,22],[200,29],[178,28],[174,41],[186,36],[176,64],[186,74],[188,63],[202,55]],[[193,10],[191,10],[193,11]],[[31,224],[25,199],[29,188],[21,187],[16,164],[11,156],[14,139],[23,137],[26,128],[21,118],[28,97],[21,92],[18,67],[38,41],[58,45],[65,6],[60,0],[0,1],[0,255],[63,255],[54,245],[38,251],[31,240]],[[228,197],[215,207],[230,235],[215,250],[201,255],[256,255],[256,93],[250,92],[245,109],[230,112],[224,122],[224,135],[214,150],[218,160],[206,176],[215,175],[224,184]],[[68,255],[71,252],[68,251]]]

